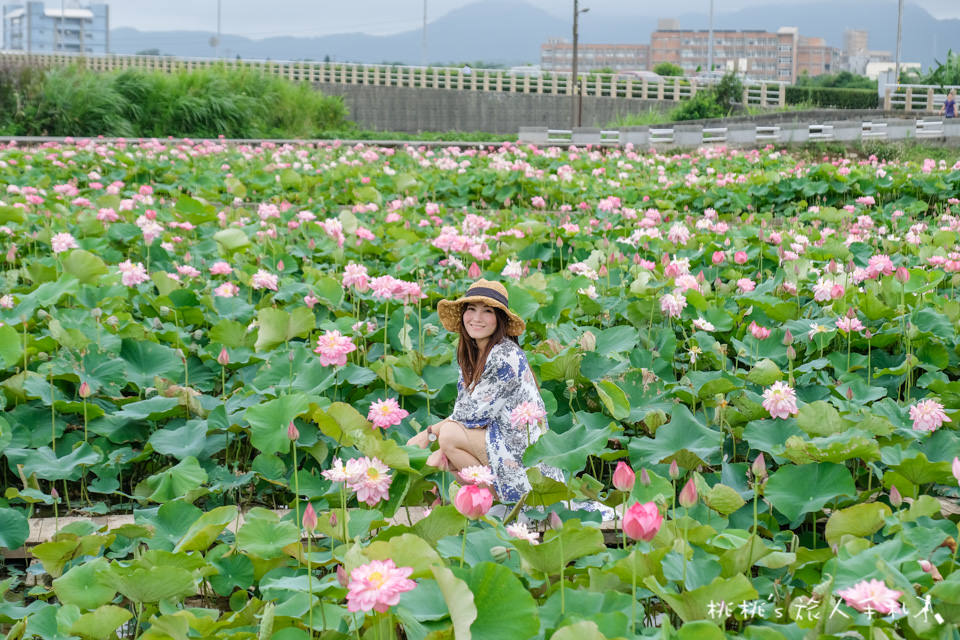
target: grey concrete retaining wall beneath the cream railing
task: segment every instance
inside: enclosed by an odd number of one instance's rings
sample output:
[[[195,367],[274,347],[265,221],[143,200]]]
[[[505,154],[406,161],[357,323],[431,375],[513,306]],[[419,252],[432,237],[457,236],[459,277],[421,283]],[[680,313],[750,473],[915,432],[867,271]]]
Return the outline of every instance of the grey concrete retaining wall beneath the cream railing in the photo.
[[[515,134],[520,127],[570,127],[572,98],[494,91],[448,91],[365,85],[316,84],[343,96],[350,119],[375,131],[485,131]],[[667,110],[675,102],[628,98],[583,98],[583,126],[606,127],[618,117]]]

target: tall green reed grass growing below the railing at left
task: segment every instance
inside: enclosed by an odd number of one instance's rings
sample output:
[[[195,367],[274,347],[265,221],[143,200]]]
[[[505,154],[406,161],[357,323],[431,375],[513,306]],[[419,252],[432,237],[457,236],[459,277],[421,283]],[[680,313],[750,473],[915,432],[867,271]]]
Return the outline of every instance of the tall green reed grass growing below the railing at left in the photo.
[[[341,98],[254,70],[0,67],[8,135],[309,138],[348,124]]]

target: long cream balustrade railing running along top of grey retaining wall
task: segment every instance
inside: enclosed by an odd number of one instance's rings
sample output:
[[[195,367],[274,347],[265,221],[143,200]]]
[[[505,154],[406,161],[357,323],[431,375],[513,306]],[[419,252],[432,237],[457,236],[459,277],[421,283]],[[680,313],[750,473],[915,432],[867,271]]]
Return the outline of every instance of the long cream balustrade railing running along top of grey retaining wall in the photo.
[[[213,67],[254,69],[293,81],[316,84],[371,85],[456,91],[501,91],[570,96],[576,87],[569,73],[543,72],[537,75],[510,73],[504,69],[469,69],[457,67],[416,67],[341,62],[297,62],[272,60],[236,60],[217,58],[174,58],[140,55],[79,55],[69,53],[26,53],[0,51],[0,60],[14,64],[41,67],[78,65],[92,71],[195,71]],[[648,79],[629,74],[578,74],[579,92],[583,96],[602,98],[634,98],[640,100],[688,100],[717,82],[710,78]],[[786,104],[782,82],[760,82],[744,86],[743,102],[760,107]]]

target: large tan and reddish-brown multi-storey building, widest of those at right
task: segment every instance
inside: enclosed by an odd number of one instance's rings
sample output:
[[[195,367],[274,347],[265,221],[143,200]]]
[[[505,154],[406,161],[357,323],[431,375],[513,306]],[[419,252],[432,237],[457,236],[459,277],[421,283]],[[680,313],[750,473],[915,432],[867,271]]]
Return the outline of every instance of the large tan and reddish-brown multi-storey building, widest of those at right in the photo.
[[[710,32],[658,29],[650,35],[650,67],[661,62],[680,66],[686,73],[707,71]],[[797,30],[730,31],[714,29],[715,69],[736,71],[754,80],[793,82],[797,73]]]

